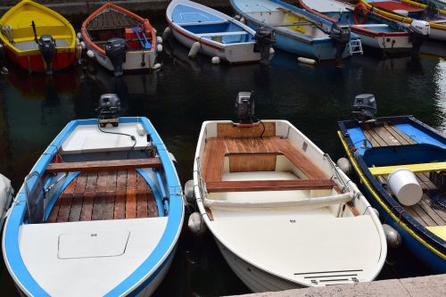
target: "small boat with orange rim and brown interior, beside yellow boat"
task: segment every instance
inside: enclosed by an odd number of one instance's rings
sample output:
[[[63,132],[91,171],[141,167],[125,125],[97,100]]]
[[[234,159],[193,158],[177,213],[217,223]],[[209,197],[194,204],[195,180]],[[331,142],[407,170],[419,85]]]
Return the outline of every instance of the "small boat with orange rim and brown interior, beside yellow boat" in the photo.
[[[82,23],[82,38],[95,60],[120,76],[123,70],[150,70],[158,52],[155,29],[147,19],[107,2]]]

